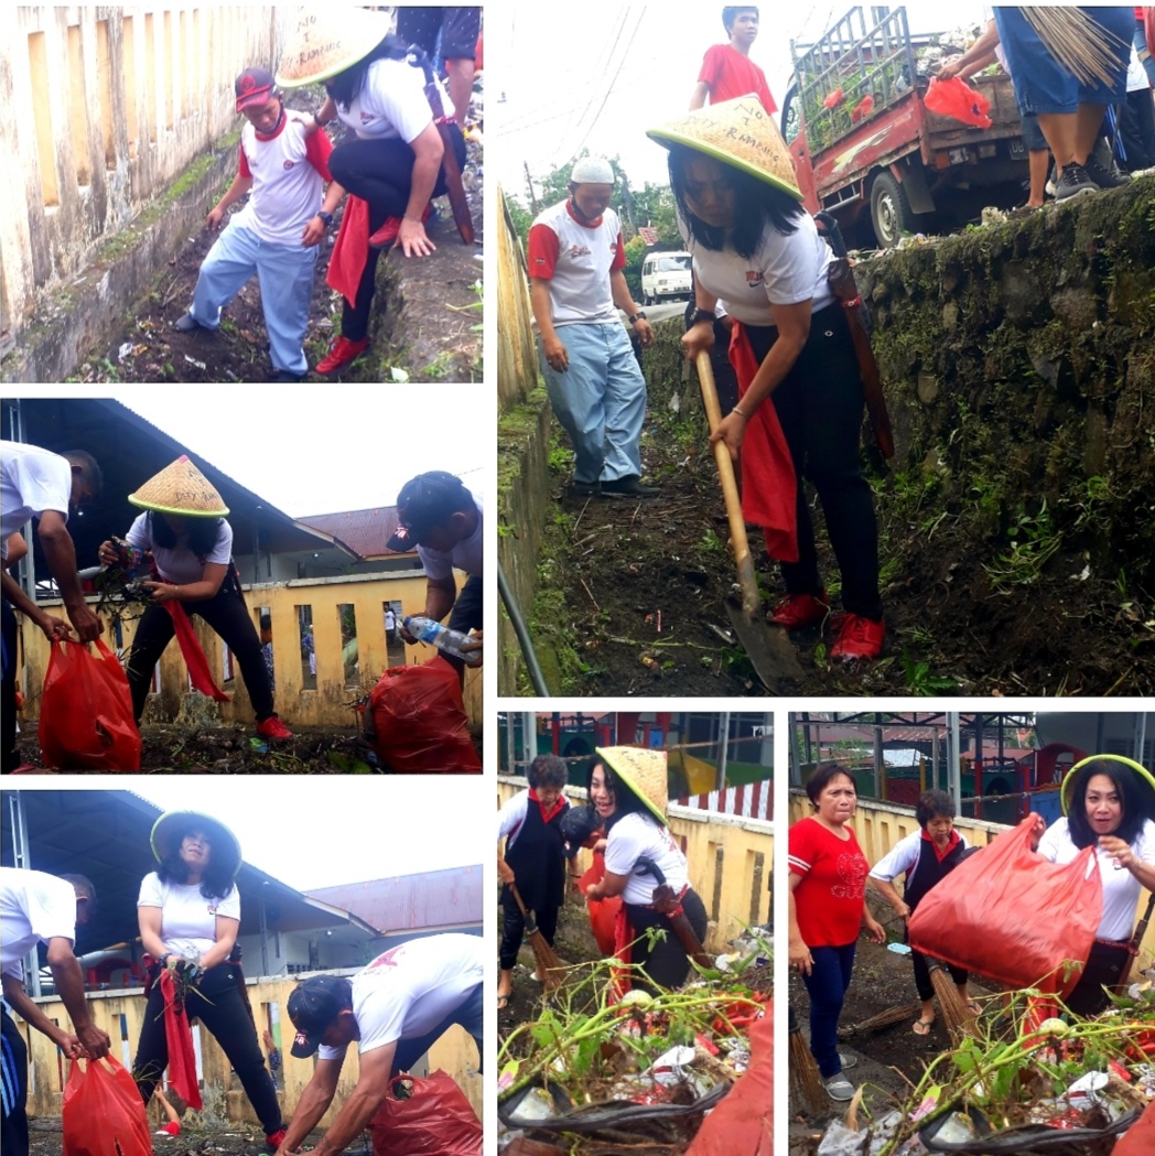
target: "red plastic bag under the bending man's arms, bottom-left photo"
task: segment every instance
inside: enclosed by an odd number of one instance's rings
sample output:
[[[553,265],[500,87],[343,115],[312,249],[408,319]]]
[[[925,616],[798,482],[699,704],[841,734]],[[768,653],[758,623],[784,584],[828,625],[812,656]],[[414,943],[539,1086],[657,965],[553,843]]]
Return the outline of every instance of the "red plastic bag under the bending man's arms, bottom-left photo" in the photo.
[[[481,1156],[477,1113],[444,1072],[397,1076],[369,1131],[373,1156]]]

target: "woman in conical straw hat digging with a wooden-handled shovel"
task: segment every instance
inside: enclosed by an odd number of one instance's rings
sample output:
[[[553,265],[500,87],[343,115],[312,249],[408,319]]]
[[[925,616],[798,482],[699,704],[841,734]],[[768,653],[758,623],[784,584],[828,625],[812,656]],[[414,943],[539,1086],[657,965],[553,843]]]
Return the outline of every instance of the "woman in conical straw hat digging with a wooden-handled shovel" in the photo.
[[[875,659],[886,628],[878,527],[859,460],[862,381],[828,284],[832,254],[801,206],[790,151],[754,97],[699,109],[649,135],[669,149],[669,183],[694,255],[687,356],[713,344],[719,303],[733,321],[739,402],[711,443],[724,440],[740,462],[743,514],[764,527],[779,563],[786,594],[772,618],[792,630],[830,617],[806,477],[842,572],[845,613],[831,621],[830,658]]]

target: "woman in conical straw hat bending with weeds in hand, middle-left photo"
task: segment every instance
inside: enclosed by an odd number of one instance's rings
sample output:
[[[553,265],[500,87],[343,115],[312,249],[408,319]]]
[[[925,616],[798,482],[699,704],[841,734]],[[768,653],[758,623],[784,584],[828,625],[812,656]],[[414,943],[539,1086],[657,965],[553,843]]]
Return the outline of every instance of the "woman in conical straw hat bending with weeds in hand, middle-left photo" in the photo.
[[[193,684],[222,702],[208,672],[203,652],[188,623],[198,615],[221,636],[238,665],[257,714],[257,733],[264,739],[291,739],[293,734],[273,710],[273,688],[261,654],[260,637],[240,593],[232,565],[232,527],[216,487],[182,454],[150,477],[128,501],[145,512],[125,535],[128,546],[150,553],[155,577],[146,581],[151,595],[128,655],[136,724],[153,681],[153,670],[176,633],[188,664]],[[102,542],[104,565],[119,561],[117,546]]]

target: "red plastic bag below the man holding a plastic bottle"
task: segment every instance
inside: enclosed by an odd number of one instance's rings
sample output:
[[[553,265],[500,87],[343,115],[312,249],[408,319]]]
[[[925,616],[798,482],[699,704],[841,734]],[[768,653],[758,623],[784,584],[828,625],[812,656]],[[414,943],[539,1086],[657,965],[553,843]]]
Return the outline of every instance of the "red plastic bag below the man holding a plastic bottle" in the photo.
[[[369,696],[365,735],[391,771],[480,771],[461,683],[440,655],[386,670]]]

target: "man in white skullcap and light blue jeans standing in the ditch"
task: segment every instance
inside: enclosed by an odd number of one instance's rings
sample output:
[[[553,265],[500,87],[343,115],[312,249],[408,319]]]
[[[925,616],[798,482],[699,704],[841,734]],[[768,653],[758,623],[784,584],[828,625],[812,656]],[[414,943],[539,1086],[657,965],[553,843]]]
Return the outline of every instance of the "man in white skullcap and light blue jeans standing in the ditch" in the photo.
[[[573,165],[570,195],[530,229],[530,296],[541,335],[546,387],[570,436],[576,497],[653,497],[642,484],[638,443],[645,420],[645,378],[619,324],[621,309],[643,346],[653,331],[625,283],[625,247],[609,208],[608,161]]]

